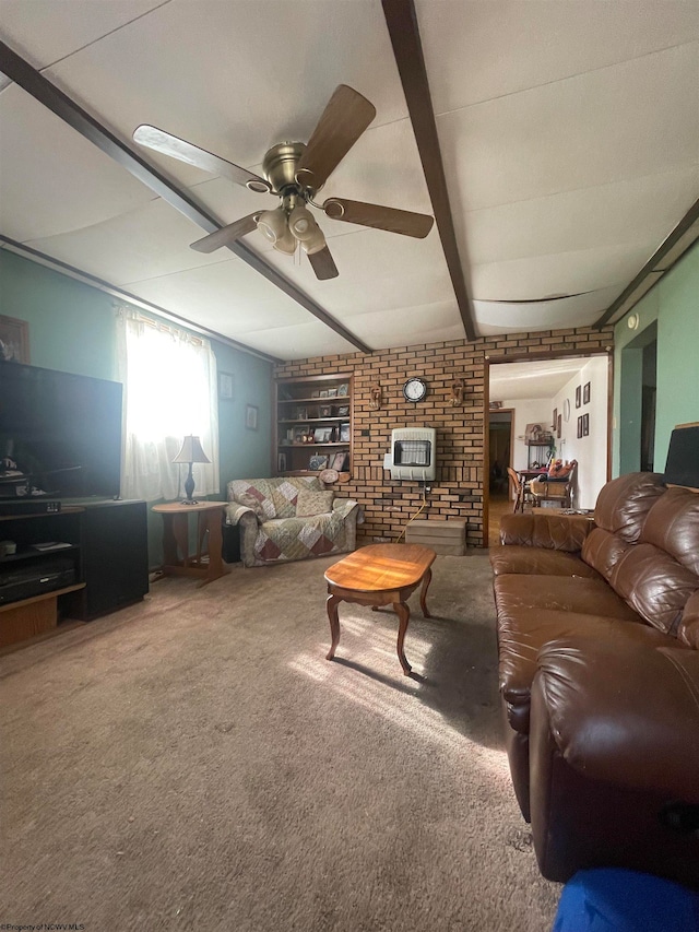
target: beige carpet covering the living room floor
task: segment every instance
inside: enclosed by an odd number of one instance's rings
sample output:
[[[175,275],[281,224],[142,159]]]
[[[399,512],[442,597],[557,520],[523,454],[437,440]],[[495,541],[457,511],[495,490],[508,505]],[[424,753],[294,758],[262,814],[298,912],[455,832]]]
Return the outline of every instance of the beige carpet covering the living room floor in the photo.
[[[438,557],[405,649],[334,559],[166,579],[0,660],[2,922],[86,932],[542,932],[501,750],[487,554]]]

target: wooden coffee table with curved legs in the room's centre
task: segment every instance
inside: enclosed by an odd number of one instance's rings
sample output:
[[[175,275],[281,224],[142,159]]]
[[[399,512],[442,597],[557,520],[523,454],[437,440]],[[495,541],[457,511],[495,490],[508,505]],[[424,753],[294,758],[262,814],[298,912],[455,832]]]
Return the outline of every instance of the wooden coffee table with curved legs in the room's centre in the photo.
[[[328,618],[332,645],[327,660],[332,660],[340,644],[340,602],[356,602],[359,605],[393,605],[399,617],[398,659],[403,673],[408,676],[411,665],[405,659],[403,642],[411,617],[407,599],[423,583],[419,604],[423,615],[430,618],[427,611],[427,589],[433,578],[430,566],[435,562],[435,551],[418,544],[374,544],[360,547],[335,563],[325,573],[328,582]]]

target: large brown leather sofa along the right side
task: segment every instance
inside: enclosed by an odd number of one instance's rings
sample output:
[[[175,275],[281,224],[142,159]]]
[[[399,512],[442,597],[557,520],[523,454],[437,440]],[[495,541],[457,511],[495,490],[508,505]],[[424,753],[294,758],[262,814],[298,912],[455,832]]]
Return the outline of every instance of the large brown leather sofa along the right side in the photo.
[[[699,494],[632,473],[594,522],[507,515],[500,539],[506,743],[542,873],[699,888]]]

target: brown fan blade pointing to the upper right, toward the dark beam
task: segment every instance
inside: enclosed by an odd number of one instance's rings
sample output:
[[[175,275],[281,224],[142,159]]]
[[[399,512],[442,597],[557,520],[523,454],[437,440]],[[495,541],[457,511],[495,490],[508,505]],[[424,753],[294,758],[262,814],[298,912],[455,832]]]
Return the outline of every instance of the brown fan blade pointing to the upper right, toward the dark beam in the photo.
[[[376,116],[374,104],[340,84],[323,110],[296,170],[297,179],[318,190]]]

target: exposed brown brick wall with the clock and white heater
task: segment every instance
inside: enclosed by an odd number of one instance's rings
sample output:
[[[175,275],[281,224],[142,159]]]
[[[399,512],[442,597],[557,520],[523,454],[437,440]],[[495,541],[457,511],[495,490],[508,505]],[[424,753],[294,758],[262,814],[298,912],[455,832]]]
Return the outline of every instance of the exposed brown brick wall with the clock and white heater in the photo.
[[[364,507],[365,523],[358,528],[360,543],[375,538],[395,539],[422,504],[417,482],[392,482],[383,470],[394,427],[419,425],[437,428],[437,480],[431,483],[427,518],[463,518],[466,543],[483,545],[484,412],[487,386],[486,358],[508,356],[533,358],[552,351],[594,353],[614,344],[614,331],[589,327],[481,338],[473,343],[449,340],[419,346],[401,346],[366,355],[317,356],[280,364],[276,378],[354,373],[354,449],[352,481],[336,486],[340,495],[356,498]],[[427,399],[411,404],[403,398],[410,376],[425,378]],[[451,404],[451,386],[465,384],[461,405]],[[383,403],[369,408],[370,387],[379,382]],[[363,436],[368,432],[368,436]]]

